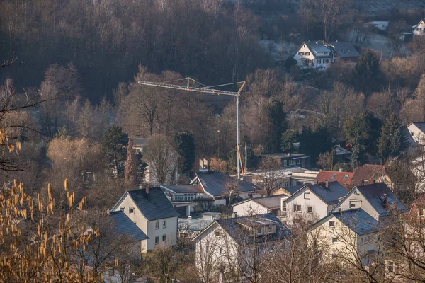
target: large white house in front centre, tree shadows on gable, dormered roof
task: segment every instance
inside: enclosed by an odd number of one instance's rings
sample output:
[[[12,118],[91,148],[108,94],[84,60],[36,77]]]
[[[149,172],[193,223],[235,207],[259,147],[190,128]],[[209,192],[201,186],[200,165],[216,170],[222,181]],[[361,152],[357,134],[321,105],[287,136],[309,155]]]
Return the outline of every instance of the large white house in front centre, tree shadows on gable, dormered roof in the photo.
[[[203,282],[220,281],[226,271],[249,277],[261,257],[288,247],[290,236],[273,214],[216,220],[193,239],[196,270]]]

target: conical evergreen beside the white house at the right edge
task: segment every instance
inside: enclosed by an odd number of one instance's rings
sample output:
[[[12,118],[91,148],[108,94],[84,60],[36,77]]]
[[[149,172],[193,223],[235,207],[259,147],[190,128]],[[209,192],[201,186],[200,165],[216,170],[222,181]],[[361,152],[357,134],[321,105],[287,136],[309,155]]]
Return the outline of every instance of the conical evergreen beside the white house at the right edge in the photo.
[[[392,114],[381,129],[378,150],[382,158],[399,156],[407,149],[407,137],[397,115]]]

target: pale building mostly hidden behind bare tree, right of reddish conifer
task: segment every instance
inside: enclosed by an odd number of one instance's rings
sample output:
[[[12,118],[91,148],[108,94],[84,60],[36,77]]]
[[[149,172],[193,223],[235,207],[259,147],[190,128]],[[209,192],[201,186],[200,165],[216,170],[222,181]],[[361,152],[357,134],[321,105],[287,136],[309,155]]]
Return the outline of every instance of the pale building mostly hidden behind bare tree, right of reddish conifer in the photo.
[[[142,137],[132,137],[131,138],[134,146],[133,149],[135,149],[138,153],[144,154],[144,149],[146,149],[146,144],[147,141],[149,141],[149,139],[147,138],[142,138]],[[174,152],[174,154],[178,155],[177,152]],[[177,158],[171,158],[173,160],[176,160]],[[143,160],[143,157],[142,157]],[[150,186],[158,186],[161,185],[159,184],[159,181],[157,180],[156,176],[154,173],[152,173],[152,170],[154,170],[154,168],[152,168],[153,164],[152,163],[147,163],[147,167],[145,168],[145,175],[144,175],[144,181],[145,183],[147,183]],[[178,166],[178,162],[174,161],[174,164],[172,164],[172,167],[174,167],[173,172],[169,173],[166,176],[166,183],[167,184],[171,184],[174,183],[174,181],[176,181],[179,178],[179,166]]]

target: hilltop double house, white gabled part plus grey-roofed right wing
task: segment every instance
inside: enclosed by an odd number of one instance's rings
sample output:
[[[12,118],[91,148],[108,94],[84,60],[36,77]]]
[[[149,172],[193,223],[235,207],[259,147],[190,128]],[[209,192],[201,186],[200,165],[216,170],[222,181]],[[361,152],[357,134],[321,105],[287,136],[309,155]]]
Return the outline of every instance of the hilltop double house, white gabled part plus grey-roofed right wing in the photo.
[[[356,63],[358,57],[356,48],[351,42],[303,42],[294,55],[297,65],[303,69],[315,68],[326,70],[332,62]]]

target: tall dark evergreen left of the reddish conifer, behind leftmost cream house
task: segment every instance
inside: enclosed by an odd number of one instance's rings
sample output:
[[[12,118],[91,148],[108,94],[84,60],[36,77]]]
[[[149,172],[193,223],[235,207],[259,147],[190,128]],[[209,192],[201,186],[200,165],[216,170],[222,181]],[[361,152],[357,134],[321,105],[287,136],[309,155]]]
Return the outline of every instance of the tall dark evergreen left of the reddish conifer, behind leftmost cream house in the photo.
[[[123,132],[121,127],[108,127],[101,146],[111,175],[123,177],[127,158],[128,134]]]

